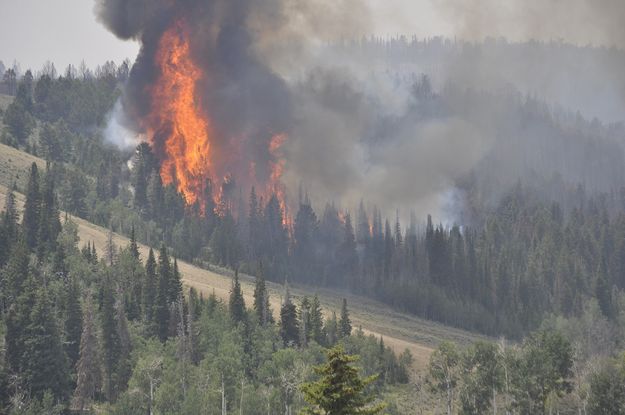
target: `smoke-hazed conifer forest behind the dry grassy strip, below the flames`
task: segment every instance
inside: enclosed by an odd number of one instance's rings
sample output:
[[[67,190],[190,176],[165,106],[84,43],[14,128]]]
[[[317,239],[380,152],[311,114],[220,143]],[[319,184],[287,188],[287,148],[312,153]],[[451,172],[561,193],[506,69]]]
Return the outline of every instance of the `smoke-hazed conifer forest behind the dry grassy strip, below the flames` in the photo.
[[[108,63],[95,73],[69,67],[57,76],[47,66],[37,78],[4,74],[15,98],[3,110],[3,141],[48,161],[46,180],[72,215],[126,235],[134,229],[137,240],[164,241],[197,264],[251,275],[262,268],[272,281],[349,289],[487,334],[518,338],[550,313],[579,316],[591,298],[609,319],[620,313],[618,126],[509,92],[450,86],[436,93],[427,77],[417,78],[406,85],[414,94],[406,119],[461,114],[483,123],[458,104],[475,97],[507,115],[496,119],[492,151],[458,180],[459,225],[414,216],[401,223],[366,203],[351,212],[332,203],[319,208],[306,195],[287,221],[277,197],[255,189],[244,196],[230,182],[208,183],[208,203],[186,206],[173,185],[162,184],[148,144],[133,153],[107,144],[103,123],[127,72],[127,64]],[[384,143],[382,135],[364,139]],[[25,181],[18,184],[26,193]],[[225,196],[212,203],[216,195]]]

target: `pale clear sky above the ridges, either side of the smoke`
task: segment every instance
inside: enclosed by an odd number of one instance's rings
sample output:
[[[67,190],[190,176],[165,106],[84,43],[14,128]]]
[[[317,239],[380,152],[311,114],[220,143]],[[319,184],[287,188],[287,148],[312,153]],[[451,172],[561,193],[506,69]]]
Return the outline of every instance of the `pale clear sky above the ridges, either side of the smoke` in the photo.
[[[370,7],[369,33],[479,39],[505,36],[565,39],[576,44],[623,46],[622,0],[363,0]],[[90,0],[0,0],[0,60],[57,69],[81,60],[134,59],[136,42],[117,39],[98,24]],[[8,66],[7,65],[7,66]]]

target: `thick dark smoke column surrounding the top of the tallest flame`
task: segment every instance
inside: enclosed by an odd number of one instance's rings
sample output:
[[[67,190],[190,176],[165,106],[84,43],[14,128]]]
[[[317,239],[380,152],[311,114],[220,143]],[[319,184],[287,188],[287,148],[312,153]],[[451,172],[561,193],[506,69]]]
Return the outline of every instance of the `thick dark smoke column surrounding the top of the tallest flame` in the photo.
[[[221,147],[214,149],[222,155],[220,164],[227,164],[236,176],[254,162],[259,170],[257,176],[263,179],[268,174],[268,141],[273,134],[288,133],[292,117],[288,88],[257,58],[248,27],[253,14],[262,11],[279,15],[281,3],[263,2],[262,10],[256,3],[102,0],[96,11],[99,20],[114,34],[141,42],[123,99],[127,119],[135,121],[131,127],[140,130],[140,121],[150,111],[149,87],[159,76],[155,65],[159,41],[167,29],[181,21],[189,31],[194,62],[205,74],[196,99],[209,113],[218,137],[213,145]],[[158,152],[158,138],[156,141]]]

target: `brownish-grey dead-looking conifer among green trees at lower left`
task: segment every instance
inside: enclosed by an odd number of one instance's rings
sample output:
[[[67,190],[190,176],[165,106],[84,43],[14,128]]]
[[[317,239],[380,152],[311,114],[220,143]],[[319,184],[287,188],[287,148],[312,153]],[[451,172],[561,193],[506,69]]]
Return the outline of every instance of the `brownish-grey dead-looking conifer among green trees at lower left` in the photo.
[[[80,336],[80,357],[76,363],[74,405],[82,412],[98,392],[102,381],[98,355],[98,337],[91,298],[87,297]]]

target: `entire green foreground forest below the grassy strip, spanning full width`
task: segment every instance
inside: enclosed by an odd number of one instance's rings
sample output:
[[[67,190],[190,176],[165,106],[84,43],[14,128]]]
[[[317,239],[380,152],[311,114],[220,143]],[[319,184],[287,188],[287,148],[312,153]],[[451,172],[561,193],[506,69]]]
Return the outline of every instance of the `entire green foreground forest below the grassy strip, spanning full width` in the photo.
[[[141,258],[132,230],[121,249],[80,247],[76,224],[61,226],[46,196],[50,177],[33,164],[21,223],[13,193],[0,220],[10,253],[0,274],[0,412],[265,414],[308,403],[320,413],[378,413],[376,396],[391,414],[415,409],[404,400],[462,414],[625,408],[623,360],[612,357],[622,324],[596,300],[579,318],[547,319],[522,343],[442,343],[428,373],[403,387],[410,352],[397,356],[382,338],[353,329],[345,301],[339,316],[324,318],[316,296],[295,304],[286,286],[274,313],[262,274],[246,304],[237,273],[227,302],[194,289],[183,295],[177,260],[164,245]],[[324,363],[324,347],[335,344]]]

